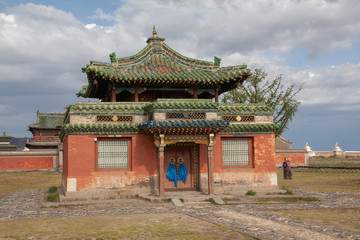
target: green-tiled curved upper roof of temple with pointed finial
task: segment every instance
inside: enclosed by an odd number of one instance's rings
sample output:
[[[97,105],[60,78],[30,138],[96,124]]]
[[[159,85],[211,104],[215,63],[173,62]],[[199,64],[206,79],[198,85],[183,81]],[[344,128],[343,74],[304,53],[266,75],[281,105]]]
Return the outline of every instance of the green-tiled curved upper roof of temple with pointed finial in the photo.
[[[101,98],[101,85],[109,82],[116,87],[171,86],[219,88],[219,93],[231,90],[251,75],[246,65],[220,67],[220,58],[214,62],[185,57],[164,43],[154,29],[153,37],[139,53],[123,58],[110,54],[111,63],[90,61],[82,70],[87,73],[89,85],[77,94],[82,97]]]

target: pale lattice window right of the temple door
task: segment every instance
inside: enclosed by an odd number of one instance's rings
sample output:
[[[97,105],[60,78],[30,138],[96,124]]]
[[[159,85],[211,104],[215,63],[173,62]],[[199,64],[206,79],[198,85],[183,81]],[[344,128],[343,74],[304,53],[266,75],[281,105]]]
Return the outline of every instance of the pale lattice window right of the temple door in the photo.
[[[223,139],[223,166],[249,165],[249,139]]]

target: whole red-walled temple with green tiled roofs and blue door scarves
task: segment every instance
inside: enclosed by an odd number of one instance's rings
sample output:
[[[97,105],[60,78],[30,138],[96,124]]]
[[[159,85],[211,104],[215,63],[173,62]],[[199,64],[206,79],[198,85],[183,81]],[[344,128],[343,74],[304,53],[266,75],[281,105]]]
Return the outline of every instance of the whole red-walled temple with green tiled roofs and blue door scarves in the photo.
[[[273,109],[219,103],[240,86],[246,65],[220,67],[185,57],[157,36],[139,53],[90,61],[78,96],[101,102],[67,107],[63,183],[70,192],[119,190],[227,193],[277,186]]]

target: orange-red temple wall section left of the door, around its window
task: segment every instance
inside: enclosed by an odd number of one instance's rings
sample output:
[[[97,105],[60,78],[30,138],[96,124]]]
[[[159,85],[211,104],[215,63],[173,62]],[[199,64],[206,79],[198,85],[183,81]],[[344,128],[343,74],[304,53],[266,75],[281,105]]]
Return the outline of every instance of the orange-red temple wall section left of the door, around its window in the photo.
[[[156,174],[157,150],[154,139],[145,134],[123,135],[123,138],[131,138],[130,170],[96,170],[95,138],[101,137],[106,136],[69,135],[66,137],[64,141],[64,181],[66,178],[76,178],[77,189],[81,190],[102,187],[107,183],[109,186],[111,184],[132,184]]]

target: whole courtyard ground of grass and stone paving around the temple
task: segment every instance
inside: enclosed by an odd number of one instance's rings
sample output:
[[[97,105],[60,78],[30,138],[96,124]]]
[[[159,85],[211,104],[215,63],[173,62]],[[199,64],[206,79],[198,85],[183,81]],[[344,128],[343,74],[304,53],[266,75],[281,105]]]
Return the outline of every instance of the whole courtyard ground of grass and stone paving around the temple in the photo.
[[[138,198],[49,205],[44,188],[60,185],[61,174],[0,173],[0,238],[360,239],[358,174],[294,172],[285,181],[279,171],[278,179],[293,195],[236,196],[225,205],[178,208]],[[26,188],[33,190],[19,191]]]

